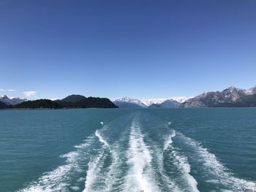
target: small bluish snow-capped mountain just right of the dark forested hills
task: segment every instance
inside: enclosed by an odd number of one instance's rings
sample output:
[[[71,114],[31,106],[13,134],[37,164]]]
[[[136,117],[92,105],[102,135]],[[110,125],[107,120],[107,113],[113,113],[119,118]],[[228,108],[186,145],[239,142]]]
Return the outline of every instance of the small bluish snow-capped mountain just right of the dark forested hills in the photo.
[[[140,101],[140,99],[133,99],[130,97],[123,97],[121,99],[116,99],[113,101],[114,104],[116,104],[120,108],[141,108],[141,107],[147,107],[146,104],[143,103],[143,101]]]

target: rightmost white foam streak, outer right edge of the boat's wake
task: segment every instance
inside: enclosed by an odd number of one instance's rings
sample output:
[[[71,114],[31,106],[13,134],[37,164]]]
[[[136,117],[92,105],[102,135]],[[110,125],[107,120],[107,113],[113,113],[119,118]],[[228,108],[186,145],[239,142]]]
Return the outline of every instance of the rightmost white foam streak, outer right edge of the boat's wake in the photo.
[[[211,174],[211,180],[208,182],[216,181],[215,177],[219,183],[225,185],[226,188],[231,188],[232,191],[256,191],[256,183],[233,177],[233,173],[223,166],[214,154],[209,153],[206,148],[201,147],[199,143],[184,134],[179,133],[179,136],[183,138],[185,144],[195,150],[200,161],[203,161],[203,168],[208,174]]]

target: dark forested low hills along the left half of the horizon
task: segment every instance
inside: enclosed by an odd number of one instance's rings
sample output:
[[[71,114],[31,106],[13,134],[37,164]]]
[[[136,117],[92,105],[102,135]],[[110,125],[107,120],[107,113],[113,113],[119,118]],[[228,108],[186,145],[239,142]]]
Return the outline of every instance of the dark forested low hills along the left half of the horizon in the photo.
[[[7,101],[7,96],[4,96]],[[61,100],[37,99],[34,101],[21,101],[10,104],[0,99],[0,109],[70,109],[70,108],[117,108],[110,99],[99,97],[85,97],[80,95],[67,96]],[[12,99],[10,99],[12,100]]]

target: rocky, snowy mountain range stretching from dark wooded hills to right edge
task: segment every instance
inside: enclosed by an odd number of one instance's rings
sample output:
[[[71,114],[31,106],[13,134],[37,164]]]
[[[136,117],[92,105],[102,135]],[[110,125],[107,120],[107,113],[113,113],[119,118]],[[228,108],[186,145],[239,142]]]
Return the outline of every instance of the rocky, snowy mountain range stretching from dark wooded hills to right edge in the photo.
[[[179,102],[180,101],[180,102]],[[199,107],[256,107],[256,86],[248,90],[230,87],[223,91],[210,91],[187,99],[132,99],[124,97],[113,101],[120,108],[199,108]]]

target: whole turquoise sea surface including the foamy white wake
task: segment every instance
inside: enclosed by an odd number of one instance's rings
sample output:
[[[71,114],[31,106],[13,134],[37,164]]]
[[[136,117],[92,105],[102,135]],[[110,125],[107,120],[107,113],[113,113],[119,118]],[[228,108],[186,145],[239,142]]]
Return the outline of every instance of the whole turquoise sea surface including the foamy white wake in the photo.
[[[1,110],[0,191],[256,191],[256,108]]]

